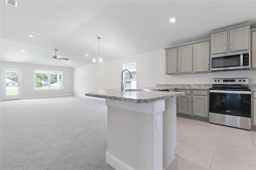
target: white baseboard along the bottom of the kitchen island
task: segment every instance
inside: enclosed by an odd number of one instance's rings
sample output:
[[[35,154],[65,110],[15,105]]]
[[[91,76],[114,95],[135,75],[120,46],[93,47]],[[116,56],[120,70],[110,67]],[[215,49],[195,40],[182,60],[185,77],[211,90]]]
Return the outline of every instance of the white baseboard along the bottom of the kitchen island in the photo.
[[[134,170],[134,168],[122,162],[120,159],[116,158],[112,154],[106,152],[106,162],[115,168],[116,170]]]

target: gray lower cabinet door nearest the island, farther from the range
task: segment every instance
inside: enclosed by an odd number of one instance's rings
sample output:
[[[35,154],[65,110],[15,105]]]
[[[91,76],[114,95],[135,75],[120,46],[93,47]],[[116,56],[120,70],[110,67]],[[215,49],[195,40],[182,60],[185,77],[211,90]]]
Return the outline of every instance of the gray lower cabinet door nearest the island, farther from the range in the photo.
[[[190,115],[190,96],[189,95],[184,95],[184,96],[179,96],[177,102],[177,112]]]

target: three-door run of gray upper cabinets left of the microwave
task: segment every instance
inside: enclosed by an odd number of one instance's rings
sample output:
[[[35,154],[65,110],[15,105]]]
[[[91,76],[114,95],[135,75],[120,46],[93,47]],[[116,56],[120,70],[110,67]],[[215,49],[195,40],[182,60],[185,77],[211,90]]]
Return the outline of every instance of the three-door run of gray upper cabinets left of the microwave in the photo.
[[[210,71],[210,39],[165,48],[166,74]]]

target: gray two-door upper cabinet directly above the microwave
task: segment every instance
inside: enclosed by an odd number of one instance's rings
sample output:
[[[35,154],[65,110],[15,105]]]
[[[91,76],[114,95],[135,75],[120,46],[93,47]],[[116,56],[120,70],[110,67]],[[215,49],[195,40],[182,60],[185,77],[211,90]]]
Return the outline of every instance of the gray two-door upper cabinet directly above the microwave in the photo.
[[[249,23],[250,24],[250,23]],[[243,24],[244,25],[244,24]],[[250,49],[250,25],[211,34],[211,54]],[[223,30],[223,29],[222,29]]]

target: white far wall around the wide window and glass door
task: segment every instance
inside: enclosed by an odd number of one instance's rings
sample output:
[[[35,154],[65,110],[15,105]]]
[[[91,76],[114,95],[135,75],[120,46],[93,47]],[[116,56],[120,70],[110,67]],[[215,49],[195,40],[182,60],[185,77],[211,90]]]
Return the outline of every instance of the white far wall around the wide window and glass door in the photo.
[[[3,67],[22,69],[22,99],[32,99],[40,97],[57,97],[73,95],[73,69],[68,67],[50,67],[43,65],[21,64],[1,62]],[[63,89],[61,90],[35,90],[35,69],[48,71],[62,71]],[[1,77],[2,81],[2,77]],[[1,83],[2,85],[2,83]],[[2,86],[1,86],[2,89]],[[1,94],[2,99],[2,94]]]

